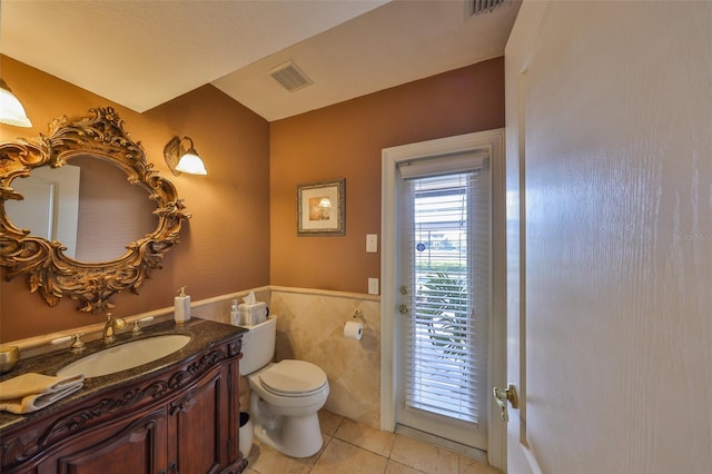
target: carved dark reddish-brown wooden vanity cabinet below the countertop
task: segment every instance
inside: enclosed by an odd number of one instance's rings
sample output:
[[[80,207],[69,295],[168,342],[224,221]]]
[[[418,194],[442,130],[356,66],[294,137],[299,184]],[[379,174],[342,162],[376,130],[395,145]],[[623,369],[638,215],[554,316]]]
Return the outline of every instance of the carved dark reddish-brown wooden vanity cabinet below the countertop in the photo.
[[[241,472],[247,462],[238,442],[240,348],[241,334],[3,429],[0,472]]]

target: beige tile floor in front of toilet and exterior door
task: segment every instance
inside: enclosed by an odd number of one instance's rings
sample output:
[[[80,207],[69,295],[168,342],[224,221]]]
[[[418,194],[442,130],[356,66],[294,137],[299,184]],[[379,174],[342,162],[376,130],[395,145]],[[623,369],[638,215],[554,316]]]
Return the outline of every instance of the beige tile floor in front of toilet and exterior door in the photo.
[[[501,474],[462,454],[322,411],[324,446],[294,458],[255,440],[248,474]]]

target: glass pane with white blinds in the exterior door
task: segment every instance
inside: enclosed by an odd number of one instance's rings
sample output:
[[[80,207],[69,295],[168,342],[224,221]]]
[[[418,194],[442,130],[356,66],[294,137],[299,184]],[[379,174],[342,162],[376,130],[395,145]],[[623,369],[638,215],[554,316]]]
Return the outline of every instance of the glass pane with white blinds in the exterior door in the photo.
[[[476,185],[485,181],[479,175],[406,181],[413,204],[406,405],[471,423],[478,422],[484,406],[477,384],[486,382],[481,374],[486,374],[487,339],[482,333],[488,296],[483,298],[475,285],[482,285],[476,277],[483,271],[488,280],[488,263],[475,256],[482,253],[478,246],[488,255],[490,231],[488,200],[477,199]],[[484,210],[474,208],[483,205]],[[475,218],[479,211],[484,219]],[[488,295],[488,283],[484,285]],[[475,309],[483,303],[484,309]]]

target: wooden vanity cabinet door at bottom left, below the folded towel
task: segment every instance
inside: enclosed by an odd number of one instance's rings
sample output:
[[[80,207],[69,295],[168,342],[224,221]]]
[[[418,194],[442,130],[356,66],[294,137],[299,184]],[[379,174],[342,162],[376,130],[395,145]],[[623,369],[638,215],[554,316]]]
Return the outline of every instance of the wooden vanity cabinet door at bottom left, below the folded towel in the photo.
[[[120,419],[68,440],[38,468],[41,474],[161,474],[167,468],[167,413]]]

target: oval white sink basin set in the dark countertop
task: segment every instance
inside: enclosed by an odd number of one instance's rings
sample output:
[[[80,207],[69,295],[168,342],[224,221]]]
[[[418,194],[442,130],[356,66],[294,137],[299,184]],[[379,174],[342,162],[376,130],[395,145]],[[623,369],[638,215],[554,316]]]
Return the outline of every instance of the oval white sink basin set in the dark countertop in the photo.
[[[190,336],[172,334],[131,340],[96,354],[88,355],[61,368],[60,377],[83,374],[85,377],[99,377],[127,371],[166,357],[190,342]]]

